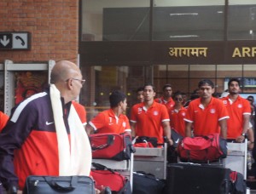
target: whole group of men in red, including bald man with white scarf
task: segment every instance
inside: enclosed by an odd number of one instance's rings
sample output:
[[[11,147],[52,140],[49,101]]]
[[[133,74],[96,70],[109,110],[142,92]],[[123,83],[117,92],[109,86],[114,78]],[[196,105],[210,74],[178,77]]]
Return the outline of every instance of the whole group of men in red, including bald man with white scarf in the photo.
[[[201,80],[188,101],[180,91],[172,94],[171,84],[164,85],[162,96],[156,98],[154,85],[147,83],[137,89],[138,101],[131,107],[130,120],[124,114],[126,95],[112,91],[110,108],[90,122],[84,106],[74,102],[84,82],[78,66],[61,60],[51,71],[46,91],[15,106],[10,117],[0,115],[0,181],[6,191],[22,190],[30,174],[90,175],[88,135],[94,133],[155,137],[159,145],[165,140],[173,145],[173,130],[183,137],[219,133],[236,142],[248,135],[253,149],[253,98],[241,98],[236,78],[230,79],[229,94],[223,98],[213,96],[211,80]]]

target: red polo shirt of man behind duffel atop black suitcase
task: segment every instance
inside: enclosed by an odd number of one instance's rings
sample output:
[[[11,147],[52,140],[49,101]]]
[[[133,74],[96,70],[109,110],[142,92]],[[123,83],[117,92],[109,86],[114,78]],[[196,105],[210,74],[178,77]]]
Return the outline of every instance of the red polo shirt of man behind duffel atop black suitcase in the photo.
[[[207,107],[201,105],[201,98],[189,103],[186,122],[193,123],[195,136],[220,133],[218,121],[229,118],[228,111],[222,100],[211,99]]]

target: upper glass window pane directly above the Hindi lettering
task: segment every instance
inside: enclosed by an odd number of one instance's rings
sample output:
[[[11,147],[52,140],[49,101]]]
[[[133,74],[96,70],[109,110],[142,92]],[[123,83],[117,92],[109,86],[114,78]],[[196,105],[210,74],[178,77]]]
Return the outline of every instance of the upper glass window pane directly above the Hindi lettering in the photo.
[[[154,0],[154,40],[224,40],[224,0]]]

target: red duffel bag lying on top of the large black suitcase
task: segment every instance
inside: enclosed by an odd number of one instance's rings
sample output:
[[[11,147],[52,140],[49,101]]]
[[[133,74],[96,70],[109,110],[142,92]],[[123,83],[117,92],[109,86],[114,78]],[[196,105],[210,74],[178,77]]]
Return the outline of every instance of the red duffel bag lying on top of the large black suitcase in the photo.
[[[219,134],[185,137],[177,145],[177,154],[182,162],[214,162],[227,157],[227,142]]]

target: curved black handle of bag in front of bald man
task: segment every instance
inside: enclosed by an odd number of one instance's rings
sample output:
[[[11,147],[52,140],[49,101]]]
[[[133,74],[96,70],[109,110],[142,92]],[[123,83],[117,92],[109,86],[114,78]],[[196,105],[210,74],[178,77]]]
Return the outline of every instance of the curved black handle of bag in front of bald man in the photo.
[[[68,186],[59,184],[53,177],[50,176],[44,176],[44,180],[51,188],[57,191],[73,191],[78,183],[77,176],[70,177],[70,184]]]

